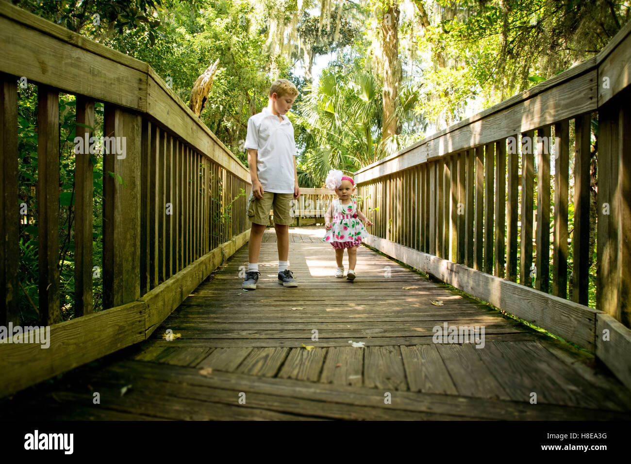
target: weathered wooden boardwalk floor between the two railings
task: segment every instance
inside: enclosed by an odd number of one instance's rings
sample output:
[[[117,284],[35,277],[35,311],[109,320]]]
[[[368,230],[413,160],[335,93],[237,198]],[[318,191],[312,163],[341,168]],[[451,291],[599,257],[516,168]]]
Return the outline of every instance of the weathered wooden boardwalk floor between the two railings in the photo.
[[[630,417],[630,391],[593,356],[366,247],[357,280],[336,279],[322,235],[292,229],[299,287],[276,282],[276,235],[268,230],[257,290],[240,288],[246,245],[151,340],[22,391],[0,409],[7,417],[107,420]],[[483,326],[483,348],[433,343],[432,329],[444,323]],[[181,338],[164,340],[167,330]]]

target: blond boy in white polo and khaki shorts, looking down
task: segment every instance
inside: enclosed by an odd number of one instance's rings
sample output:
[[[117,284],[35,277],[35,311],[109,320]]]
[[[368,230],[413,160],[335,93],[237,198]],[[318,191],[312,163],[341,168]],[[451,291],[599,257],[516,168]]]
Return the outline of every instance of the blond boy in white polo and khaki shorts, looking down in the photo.
[[[269,209],[274,206],[274,229],[278,244],[278,283],[284,287],[298,287],[292,271],[288,270],[289,224],[292,199],[300,196],[296,170],[296,144],[293,126],[285,116],[298,96],[292,82],[280,79],[268,93],[268,106],[247,121],[247,162],[252,178],[252,194],[247,215],[252,221],[248,245],[249,263],[242,288],[254,290],[259,279],[259,252],[265,226],[269,223]]]

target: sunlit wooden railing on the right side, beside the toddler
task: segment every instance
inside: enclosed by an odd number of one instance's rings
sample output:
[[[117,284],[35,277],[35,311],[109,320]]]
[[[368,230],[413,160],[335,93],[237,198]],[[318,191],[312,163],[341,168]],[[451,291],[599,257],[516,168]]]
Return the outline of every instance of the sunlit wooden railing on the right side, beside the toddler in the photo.
[[[367,244],[596,352],[627,386],[630,32],[627,24],[598,56],[355,173],[375,223]],[[593,137],[596,309],[588,306]]]

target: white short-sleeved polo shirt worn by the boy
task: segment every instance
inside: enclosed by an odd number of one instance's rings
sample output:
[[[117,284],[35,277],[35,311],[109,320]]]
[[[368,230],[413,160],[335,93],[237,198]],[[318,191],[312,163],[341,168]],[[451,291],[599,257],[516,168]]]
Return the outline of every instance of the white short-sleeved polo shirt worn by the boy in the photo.
[[[268,107],[247,120],[245,151],[257,150],[256,172],[263,191],[293,193],[293,157],[296,142],[292,122],[283,114],[283,122]]]

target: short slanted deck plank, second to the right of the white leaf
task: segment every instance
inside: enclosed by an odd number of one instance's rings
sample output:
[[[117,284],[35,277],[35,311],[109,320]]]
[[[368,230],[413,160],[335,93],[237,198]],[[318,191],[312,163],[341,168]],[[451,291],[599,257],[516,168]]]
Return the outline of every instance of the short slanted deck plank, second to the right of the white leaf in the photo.
[[[456,386],[440,359],[436,346],[400,347],[410,391],[457,395]]]

